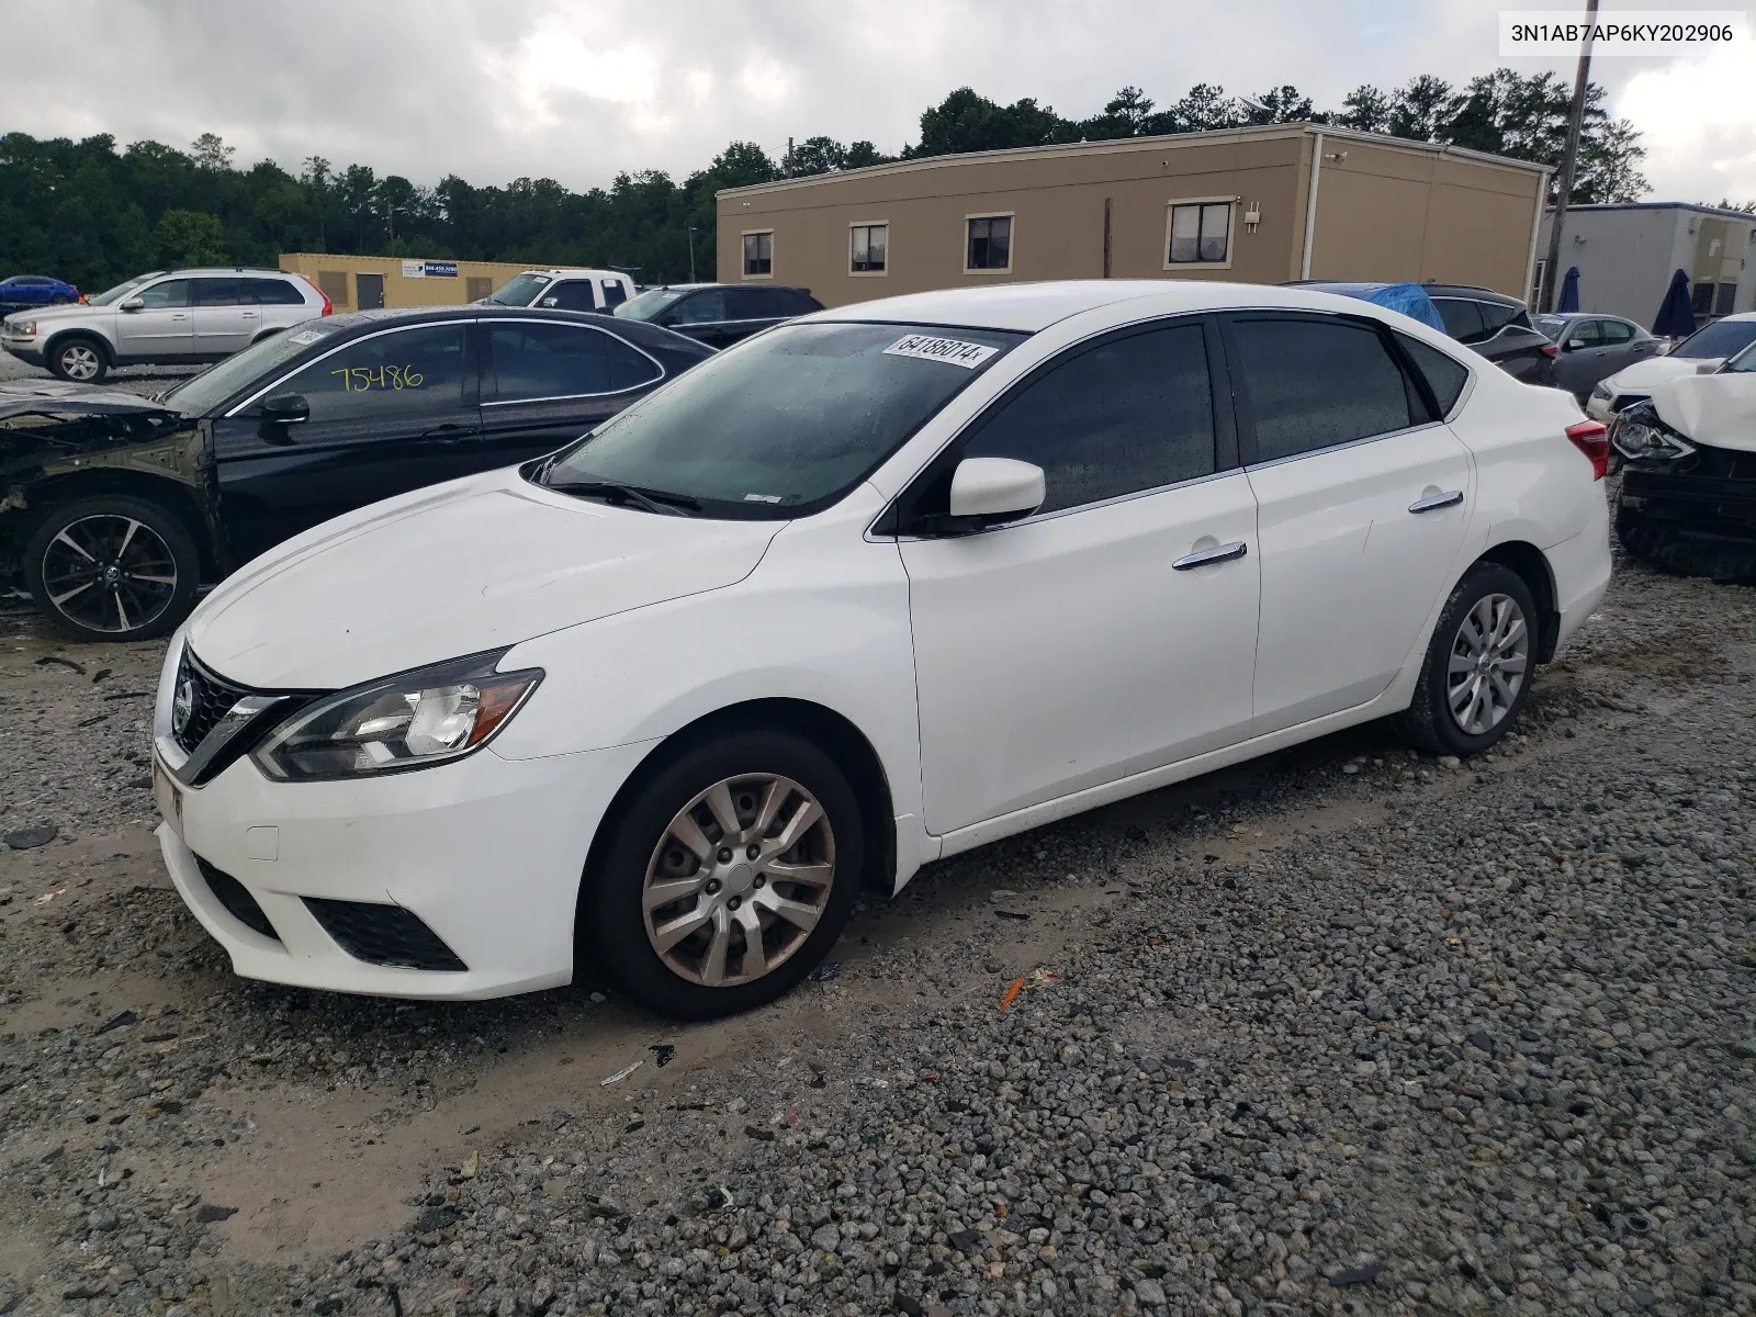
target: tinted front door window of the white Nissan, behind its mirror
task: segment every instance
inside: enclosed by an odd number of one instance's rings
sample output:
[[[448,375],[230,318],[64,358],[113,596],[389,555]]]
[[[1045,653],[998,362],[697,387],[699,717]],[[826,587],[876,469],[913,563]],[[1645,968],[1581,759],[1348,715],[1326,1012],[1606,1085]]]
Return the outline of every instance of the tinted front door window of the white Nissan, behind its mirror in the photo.
[[[1201,325],[1110,339],[1052,365],[990,414],[962,457],[1040,465],[1043,513],[1213,474]]]

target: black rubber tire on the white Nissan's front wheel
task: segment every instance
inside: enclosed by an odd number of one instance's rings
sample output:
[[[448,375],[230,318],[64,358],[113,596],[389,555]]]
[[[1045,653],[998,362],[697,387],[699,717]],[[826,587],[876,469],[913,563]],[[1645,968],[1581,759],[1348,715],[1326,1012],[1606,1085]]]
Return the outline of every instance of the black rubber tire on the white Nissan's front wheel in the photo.
[[[648,871],[666,862],[660,845],[667,839],[673,824],[681,811],[715,783],[738,778],[760,778],[771,774],[788,780],[808,792],[822,806],[822,813],[831,834],[831,880],[825,894],[817,899],[818,917],[808,936],[797,938],[788,924],[780,920],[767,927],[783,938],[795,938],[792,948],[773,969],[745,983],[708,987],[699,978],[685,978],[655,948],[648,936],[648,918],[644,892]],[[739,804],[743,818],[743,804]],[[711,824],[708,829],[709,831]],[[773,829],[771,829],[773,831]],[[848,785],[846,774],[836,762],[810,741],[781,730],[748,729],[723,734],[713,741],[680,750],[674,757],[643,774],[643,781],[634,788],[625,802],[618,802],[613,815],[601,829],[601,845],[587,869],[579,890],[578,913],[578,954],[581,964],[599,975],[609,987],[625,992],[646,1010],[676,1020],[713,1020],[723,1015],[766,1006],[788,992],[811,969],[822,962],[829,948],[834,946],[853,913],[853,901],[859,896],[860,871],[866,853],[866,838],[860,824],[860,808]],[[715,845],[725,838],[716,838]],[[676,850],[676,848],[673,848]],[[681,853],[681,852],[680,852]],[[788,852],[794,853],[794,852]],[[738,853],[722,848],[713,857]],[[780,859],[780,857],[769,857]],[[694,866],[683,873],[683,882],[718,873],[701,864],[692,855],[685,860]],[[762,860],[767,864],[767,859]],[[739,864],[738,869],[746,866]],[[739,882],[750,882],[745,876]],[[760,874],[753,880],[762,885]],[[678,911],[699,911],[709,903],[709,892],[720,892],[723,904],[732,890],[734,880],[727,878],[727,887],[715,889],[711,883],[699,894],[687,897],[692,904],[667,908],[676,918]],[[785,896],[787,889],[795,897],[806,897],[804,889],[788,887],[776,882],[773,896]],[[752,904],[745,911],[755,917],[755,892],[741,889]],[[730,903],[738,910],[738,903]],[[729,920],[732,917],[727,917]],[[773,915],[771,915],[773,918]],[[655,917],[655,924],[657,924]],[[708,932],[711,925],[702,925]],[[736,934],[736,936],[741,936]],[[695,939],[695,934],[690,934]],[[678,954],[687,954],[690,939],[678,945]],[[727,966],[729,959],[723,961]],[[743,961],[739,961],[743,964]]]

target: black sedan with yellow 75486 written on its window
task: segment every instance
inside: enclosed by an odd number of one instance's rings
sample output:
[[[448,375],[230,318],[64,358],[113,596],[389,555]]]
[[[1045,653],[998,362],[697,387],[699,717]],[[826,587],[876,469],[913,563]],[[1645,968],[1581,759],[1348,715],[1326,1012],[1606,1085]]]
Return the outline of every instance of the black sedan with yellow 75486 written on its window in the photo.
[[[550,453],[711,355],[601,314],[420,307],[309,321],[158,399],[5,385],[0,562],[76,639],[162,636],[200,581],[363,504]]]

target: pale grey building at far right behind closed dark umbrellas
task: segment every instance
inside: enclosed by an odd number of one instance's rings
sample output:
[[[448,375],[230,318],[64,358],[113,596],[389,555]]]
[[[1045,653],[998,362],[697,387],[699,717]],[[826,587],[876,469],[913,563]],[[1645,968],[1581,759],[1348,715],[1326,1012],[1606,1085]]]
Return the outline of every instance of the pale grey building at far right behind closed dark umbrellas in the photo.
[[[1554,211],[1536,251],[1549,251]],[[1579,309],[1626,316],[1647,328],[1677,270],[1689,276],[1696,321],[1756,311],[1756,214],[1686,202],[1570,205],[1561,274],[1579,267]],[[1538,262],[1536,288],[1542,286]],[[1556,279],[1559,291],[1559,277]],[[1535,300],[1531,302],[1535,306]]]

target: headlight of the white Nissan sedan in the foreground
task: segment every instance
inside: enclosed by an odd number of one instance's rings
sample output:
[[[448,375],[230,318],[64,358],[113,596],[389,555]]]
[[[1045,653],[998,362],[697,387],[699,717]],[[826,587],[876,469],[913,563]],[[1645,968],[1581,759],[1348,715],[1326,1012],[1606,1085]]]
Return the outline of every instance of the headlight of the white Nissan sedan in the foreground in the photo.
[[[325,695],[251,753],[283,781],[360,778],[444,764],[479,750],[543,680],[495,673],[506,650],[453,658]]]

